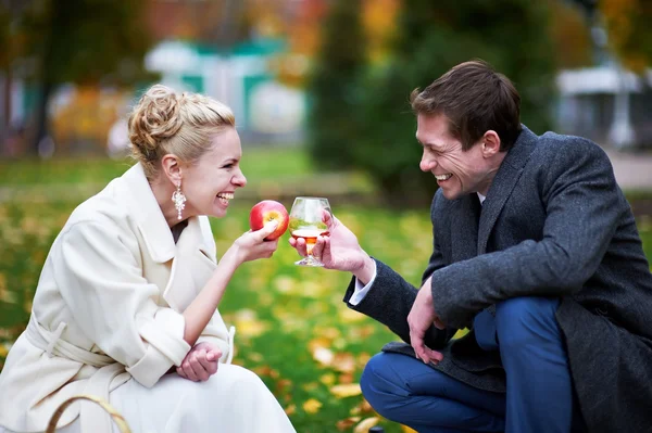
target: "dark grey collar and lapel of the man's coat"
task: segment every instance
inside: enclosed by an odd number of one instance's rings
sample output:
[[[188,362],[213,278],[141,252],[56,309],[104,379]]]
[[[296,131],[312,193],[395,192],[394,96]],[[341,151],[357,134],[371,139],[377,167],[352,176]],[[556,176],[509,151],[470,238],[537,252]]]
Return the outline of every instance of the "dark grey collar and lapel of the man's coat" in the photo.
[[[487,252],[489,234],[491,233],[493,225],[505,202],[512,194],[512,191],[523,173],[523,167],[525,167],[529,161],[537,143],[537,135],[526,126],[523,126],[523,130],[514,143],[514,147],[507,152],[507,155],[500,165],[500,168],[491,182],[489,192],[487,192],[487,200],[482,205],[482,213],[480,215],[480,224],[478,227],[478,255]]]

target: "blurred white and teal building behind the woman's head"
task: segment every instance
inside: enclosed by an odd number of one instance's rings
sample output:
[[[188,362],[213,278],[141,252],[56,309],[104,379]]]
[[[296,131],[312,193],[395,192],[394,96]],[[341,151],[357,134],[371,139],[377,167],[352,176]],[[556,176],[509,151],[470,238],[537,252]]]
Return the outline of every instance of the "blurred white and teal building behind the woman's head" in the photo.
[[[302,140],[305,97],[275,78],[273,62],[286,50],[279,39],[239,43],[227,52],[181,41],[164,41],[146,67],[177,90],[205,93],[231,107],[244,142]]]

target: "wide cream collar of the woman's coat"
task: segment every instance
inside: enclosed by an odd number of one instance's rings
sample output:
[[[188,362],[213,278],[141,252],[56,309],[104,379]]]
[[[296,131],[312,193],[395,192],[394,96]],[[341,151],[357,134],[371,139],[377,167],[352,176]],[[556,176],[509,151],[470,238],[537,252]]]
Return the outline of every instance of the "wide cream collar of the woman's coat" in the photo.
[[[125,200],[128,216],[138,226],[154,262],[171,260],[181,246],[184,250],[199,249],[209,257],[214,256],[214,246],[212,247],[204,239],[206,228],[202,226],[208,225],[208,221],[202,221],[200,218],[206,219],[205,217],[188,218],[188,226],[175,244],[172,230],[167,226],[140,163],[134,165],[120,178],[118,188],[121,198]]]

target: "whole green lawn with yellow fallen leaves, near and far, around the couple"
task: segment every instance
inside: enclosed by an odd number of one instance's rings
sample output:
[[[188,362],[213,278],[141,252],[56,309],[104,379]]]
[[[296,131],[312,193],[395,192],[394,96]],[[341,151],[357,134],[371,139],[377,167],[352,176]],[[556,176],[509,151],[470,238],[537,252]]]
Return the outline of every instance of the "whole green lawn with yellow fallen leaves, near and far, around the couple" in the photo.
[[[27,322],[54,237],[84,200],[80,195],[89,193],[67,192],[79,186],[99,190],[127,166],[106,160],[0,163],[0,198],[4,192],[0,201],[0,368],[8,347]],[[293,148],[246,149],[242,166],[247,189],[258,189],[262,196],[269,184],[297,188],[314,171],[305,154]],[[358,182],[355,188],[369,188],[364,176],[347,176],[348,181]],[[281,201],[289,209],[291,199]],[[418,284],[431,250],[427,204],[422,211],[394,212],[331,202],[334,213],[358,234],[365,250]],[[248,230],[252,204],[239,202],[236,194],[228,215],[212,218],[218,255]],[[641,218],[639,229],[645,254],[652,257],[650,219]],[[234,362],[263,378],[299,432],[353,431],[376,416],[356,386],[362,369],[383,344],[397,339],[384,326],[344,306],[341,298],[348,275],[294,266],[298,256],[287,239],[288,233],[273,258],[241,266],[220,305],[227,326],[237,328]],[[397,424],[379,422],[387,432],[401,431]]]

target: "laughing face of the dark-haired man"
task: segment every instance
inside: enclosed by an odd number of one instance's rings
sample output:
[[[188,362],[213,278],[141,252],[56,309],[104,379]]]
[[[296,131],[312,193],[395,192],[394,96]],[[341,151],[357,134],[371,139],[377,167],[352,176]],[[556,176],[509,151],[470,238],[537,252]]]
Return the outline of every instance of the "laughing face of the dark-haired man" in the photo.
[[[443,196],[449,200],[473,192],[487,194],[494,168],[482,154],[481,138],[469,150],[449,132],[444,115],[419,114],[416,119],[416,139],[424,148],[419,164],[437,179]]]

